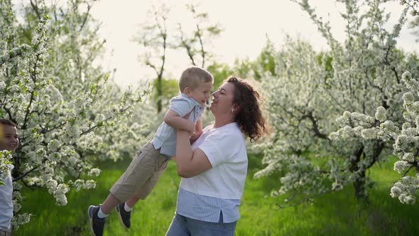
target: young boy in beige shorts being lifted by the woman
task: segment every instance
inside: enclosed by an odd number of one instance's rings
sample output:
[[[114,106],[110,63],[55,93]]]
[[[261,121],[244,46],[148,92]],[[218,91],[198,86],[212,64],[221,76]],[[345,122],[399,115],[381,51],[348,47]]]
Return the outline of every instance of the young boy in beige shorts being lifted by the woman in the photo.
[[[140,199],[145,199],[156,186],[176,153],[176,129],[192,134],[195,141],[202,133],[200,116],[212,90],[213,77],[207,70],[192,67],[183,71],[179,88],[181,95],[170,100],[170,107],[156,134],[137,152],[129,167],[110,189],[102,205],[90,205],[89,224],[93,235],[102,235],[104,223],[112,208],[116,208],[124,227],[131,227],[131,210]],[[188,119],[185,115],[190,114]]]

